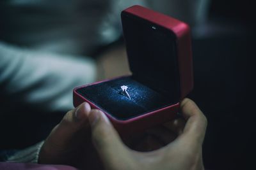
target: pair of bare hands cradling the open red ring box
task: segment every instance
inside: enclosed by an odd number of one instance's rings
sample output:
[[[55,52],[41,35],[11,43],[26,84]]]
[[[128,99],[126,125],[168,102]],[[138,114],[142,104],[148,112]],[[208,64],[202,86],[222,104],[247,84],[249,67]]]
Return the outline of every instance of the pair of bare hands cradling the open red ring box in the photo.
[[[184,118],[125,141],[128,147],[102,111],[83,103],[52,130],[39,162],[81,169],[204,169],[202,143],[207,119],[190,99],[180,103],[180,112]]]

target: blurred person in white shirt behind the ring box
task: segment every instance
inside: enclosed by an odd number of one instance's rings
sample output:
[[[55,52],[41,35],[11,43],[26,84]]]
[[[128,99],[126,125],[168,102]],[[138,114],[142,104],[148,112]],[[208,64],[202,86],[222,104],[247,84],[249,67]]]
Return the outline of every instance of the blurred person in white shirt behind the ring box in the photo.
[[[115,42],[122,36],[120,12],[134,4],[195,26],[206,20],[209,0],[1,1],[1,115],[26,115],[27,108],[65,113],[73,108],[74,87],[129,73],[124,45]],[[22,153],[28,150],[8,158]]]

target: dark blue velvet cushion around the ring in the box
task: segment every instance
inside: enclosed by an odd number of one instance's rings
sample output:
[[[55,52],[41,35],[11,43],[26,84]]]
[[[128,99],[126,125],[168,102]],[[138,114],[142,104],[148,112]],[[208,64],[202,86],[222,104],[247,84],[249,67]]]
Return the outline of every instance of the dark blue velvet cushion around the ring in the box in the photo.
[[[122,85],[128,87],[131,99],[122,92]],[[90,85],[77,92],[118,120],[127,120],[177,102],[171,96],[136,81],[132,76]]]

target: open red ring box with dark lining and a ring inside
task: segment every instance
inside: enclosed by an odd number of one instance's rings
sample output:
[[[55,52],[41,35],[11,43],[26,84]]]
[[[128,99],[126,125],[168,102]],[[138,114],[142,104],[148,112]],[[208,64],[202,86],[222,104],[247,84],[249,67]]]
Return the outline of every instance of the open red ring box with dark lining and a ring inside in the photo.
[[[102,110],[127,136],[175,118],[193,89],[193,67],[187,24],[137,5],[121,17],[132,75],[77,87],[73,97],[75,107],[87,102]]]

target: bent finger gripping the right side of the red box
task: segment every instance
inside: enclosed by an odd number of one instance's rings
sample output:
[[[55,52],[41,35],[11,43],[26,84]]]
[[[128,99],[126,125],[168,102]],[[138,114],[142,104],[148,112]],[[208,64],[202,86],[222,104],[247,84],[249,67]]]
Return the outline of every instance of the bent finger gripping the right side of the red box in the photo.
[[[191,99],[184,99],[180,104],[180,110],[187,120],[180,138],[186,138],[189,143],[202,144],[207,127],[206,117]]]

